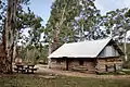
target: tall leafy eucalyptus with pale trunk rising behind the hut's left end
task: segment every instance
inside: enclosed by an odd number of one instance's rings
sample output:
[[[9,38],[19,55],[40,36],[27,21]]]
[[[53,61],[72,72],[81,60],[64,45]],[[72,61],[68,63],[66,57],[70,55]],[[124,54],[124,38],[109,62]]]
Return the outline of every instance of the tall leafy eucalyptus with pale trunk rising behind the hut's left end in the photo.
[[[74,21],[80,11],[80,0],[55,0],[44,29],[44,40],[55,50],[61,44],[74,41]]]

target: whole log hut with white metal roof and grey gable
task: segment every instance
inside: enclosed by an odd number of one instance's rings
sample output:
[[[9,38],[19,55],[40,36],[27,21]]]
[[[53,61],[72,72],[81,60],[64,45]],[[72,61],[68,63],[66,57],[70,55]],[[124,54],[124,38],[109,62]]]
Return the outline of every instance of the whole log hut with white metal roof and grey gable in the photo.
[[[112,39],[64,44],[48,58],[50,67],[80,72],[116,72],[122,67],[123,52]]]

